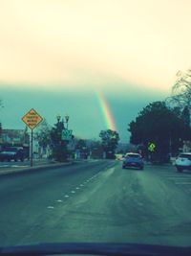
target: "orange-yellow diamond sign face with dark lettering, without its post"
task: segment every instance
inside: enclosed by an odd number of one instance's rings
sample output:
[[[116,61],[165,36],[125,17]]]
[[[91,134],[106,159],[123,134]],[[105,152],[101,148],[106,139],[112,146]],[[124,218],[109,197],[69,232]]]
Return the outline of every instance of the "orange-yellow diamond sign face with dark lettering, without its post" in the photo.
[[[33,129],[43,121],[43,118],[32,108],[22,120],[29,128]]]

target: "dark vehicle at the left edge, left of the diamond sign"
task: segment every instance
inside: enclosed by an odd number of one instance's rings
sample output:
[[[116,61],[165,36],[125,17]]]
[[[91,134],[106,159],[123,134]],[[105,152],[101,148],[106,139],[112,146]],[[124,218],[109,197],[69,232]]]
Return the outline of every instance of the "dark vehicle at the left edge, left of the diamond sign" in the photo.
[[[22,147],[7,147],[0,152],[0,161],[11,161],[15,162],[20,160],[24,161],[24,151]]]

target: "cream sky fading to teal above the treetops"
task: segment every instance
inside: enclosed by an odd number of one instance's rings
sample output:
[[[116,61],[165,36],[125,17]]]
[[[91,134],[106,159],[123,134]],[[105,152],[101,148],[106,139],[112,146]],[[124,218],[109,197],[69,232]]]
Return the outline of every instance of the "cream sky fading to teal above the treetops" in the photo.
[[[0,0],[3,128],[24,128],[34,108],[50,125],[69,114],[82,138],[117,128],[128,142],[142,107],[191,68],[190,10],[190,0]]]

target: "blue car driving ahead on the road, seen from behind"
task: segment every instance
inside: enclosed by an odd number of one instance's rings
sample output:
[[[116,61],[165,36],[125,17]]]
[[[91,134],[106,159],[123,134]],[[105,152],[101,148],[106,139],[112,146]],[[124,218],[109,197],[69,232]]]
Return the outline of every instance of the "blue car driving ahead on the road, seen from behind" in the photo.
[[[136,153],[136,152],[128,152],[126,153],[123,163],[122,163],[122,168],[126,169],[128,167],[136,167],[140,170],[144,169],[144,162],[141,154]]]

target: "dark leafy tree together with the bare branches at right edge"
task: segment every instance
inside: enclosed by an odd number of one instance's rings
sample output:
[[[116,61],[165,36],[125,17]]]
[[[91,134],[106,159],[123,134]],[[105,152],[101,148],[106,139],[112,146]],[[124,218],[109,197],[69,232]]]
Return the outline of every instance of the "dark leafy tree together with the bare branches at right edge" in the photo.
[[[145,157],[165,162],[176,155],[185,141],[191,141],[191,70],[178,72],[172,95],[162,102],[146,105],[128,130],[130,142],[137,145]],[[153,143],[155,149],[149,150]]]

